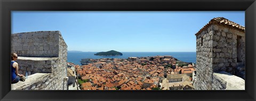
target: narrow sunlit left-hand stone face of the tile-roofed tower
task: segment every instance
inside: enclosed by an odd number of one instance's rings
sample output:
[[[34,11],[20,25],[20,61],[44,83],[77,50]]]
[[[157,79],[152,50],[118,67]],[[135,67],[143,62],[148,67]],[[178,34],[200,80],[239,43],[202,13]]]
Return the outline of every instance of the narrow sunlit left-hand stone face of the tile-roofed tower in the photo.
[[[213,45],[213,25],[196,36],[196,89],[212,89],[212,45]]]

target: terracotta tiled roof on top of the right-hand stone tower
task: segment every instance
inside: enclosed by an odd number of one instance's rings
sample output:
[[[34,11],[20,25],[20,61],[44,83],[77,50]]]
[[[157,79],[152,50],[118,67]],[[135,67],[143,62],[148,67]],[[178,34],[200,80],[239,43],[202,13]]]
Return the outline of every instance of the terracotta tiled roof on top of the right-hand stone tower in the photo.
[[[234,27],[237,30],[245,32],[245,27],[244,26],[239,25],[235,22],[229,21],[228,19],[225,19],[224,17],[215,17],[211,21],[209,21],[209,23],[204,25],[204,27],[202,29],[200,29],[195,35],[198,35],[199,33],[201,33],[204,29],[206,29],[206,27],[208,27],[212,23],[221,24],[221,25],[228,25],[228,26]]]

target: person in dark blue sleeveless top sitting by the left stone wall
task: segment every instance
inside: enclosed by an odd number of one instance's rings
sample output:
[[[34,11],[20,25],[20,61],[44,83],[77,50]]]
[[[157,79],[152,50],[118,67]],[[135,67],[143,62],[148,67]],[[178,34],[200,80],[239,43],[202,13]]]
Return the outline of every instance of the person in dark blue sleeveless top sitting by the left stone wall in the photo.
[[[18,63],[15,62],[18,59],[18,55],[16,53],[12,53],[11,54],[11,84],[15,84],[17,82],[19,82],[20,77],[24,76],[24,75],[20,75],[18,74],[19,68],[18,68]]]

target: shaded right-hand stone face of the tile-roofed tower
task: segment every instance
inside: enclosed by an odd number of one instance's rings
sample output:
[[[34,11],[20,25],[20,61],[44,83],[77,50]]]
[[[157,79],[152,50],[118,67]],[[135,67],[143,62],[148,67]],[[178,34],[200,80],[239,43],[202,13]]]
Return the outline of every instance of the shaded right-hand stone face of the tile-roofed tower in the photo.
[[[245,62],[245,33],[223,25],[214,25],[213,32],[213,72],[223,70],[236,75],[237,59]]]

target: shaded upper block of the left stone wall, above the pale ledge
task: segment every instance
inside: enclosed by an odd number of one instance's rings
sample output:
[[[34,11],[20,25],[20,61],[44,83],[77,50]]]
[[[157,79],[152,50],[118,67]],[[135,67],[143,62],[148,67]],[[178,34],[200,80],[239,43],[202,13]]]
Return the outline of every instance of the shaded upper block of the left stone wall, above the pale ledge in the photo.
[[[23,57],[59,57],[59,31],[38,31],[11,35],[11,52]]]

